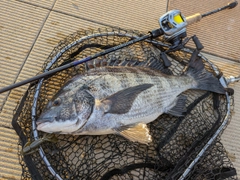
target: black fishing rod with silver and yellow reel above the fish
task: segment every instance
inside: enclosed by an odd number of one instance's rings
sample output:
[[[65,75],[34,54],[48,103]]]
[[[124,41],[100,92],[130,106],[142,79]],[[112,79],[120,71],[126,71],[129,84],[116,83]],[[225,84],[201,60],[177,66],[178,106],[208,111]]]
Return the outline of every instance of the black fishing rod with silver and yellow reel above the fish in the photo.
[[[82,64],[82,63],[85,63],[85,62],[90,61],[92,59],[95,59],[99,56],[103,56],[103,55],[108,54],[110,52],[113,52],[113,51],[116,51],[118,49],[127,47],[127,46],[129,46],[131,44],[134,44],[136,42],[146,40],[148,38],[156,38],[156,37],[159,37],[159,36],[163,35],[164,40],[166,42],[169,42],[170,44],[172,44],[170,49],[177,50],[178,47],[182,47],[182,46],[179,46],[179,45],[182,43],[182,39],[187,36],[186,27],[188,25],[193,24],[195,22],[198,22],[202,18],[204,18],[206,16],[209,16],[211,14],[214,14],[214,13],[220,12],[222,10],[232,9],[232,8],[236,7],[237,4],[238,4],[237,1],[234,1],[234,2],[229,3],[228,5],[226,5],[222,8],[218,8],[218,9],[210,11],[208,13],[205,13],[205,14],[197,13],[197,14],[194,14],[194,15],[186,17],[186,18],[181,14],[181,12],[179,10],[168,11],[167,13],[165,13],[163,16],[161,16],[159,18],[159,24],[160,24],[159,29],[152,30],[144,36],[141,36],[141,37],[138,37],[136,39],[130,40],[130,41],[128,41],[126,43],[123,43],[123,44],[120,44],[118,46],[114,46],[114,47],[109,48],[105,51],[96,53],[92,56],[88,56],[84,59],[68,63],[66,65],[57,67],[53,70],[44,72],[44,73],[39,74],[37,76],[34,76],[32,78],[23,80],[21,82],[18,82],[18,83],[9,85],[9,86],[6,86],[6,87],[0,89],[0,93],[9,91],[11,89],[14,89],[14,88],[17,88],[19,86],[25,85],[27,83],[34,82],[34,81],[42,79],[42,78],[47,78],[47,77],[49,77],[49,76],[51,76],[51,75],[53,75],[57,72],[60,72],[62,70],[68,69],[70,67],[77,66],[79,64]]]

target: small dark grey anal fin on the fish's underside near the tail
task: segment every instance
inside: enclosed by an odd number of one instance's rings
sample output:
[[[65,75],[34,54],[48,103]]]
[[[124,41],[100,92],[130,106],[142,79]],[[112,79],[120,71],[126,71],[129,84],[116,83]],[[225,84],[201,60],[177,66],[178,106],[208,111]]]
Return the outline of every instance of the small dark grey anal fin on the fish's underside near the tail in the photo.
[[[184,113],[187,111],[186,100],[187,100],[186,96],[184,95],[178,96],[178,98],[172,103],[172,106],[170,106],[170,109],[167,110],[166,113],[177,117],[184,116]]]

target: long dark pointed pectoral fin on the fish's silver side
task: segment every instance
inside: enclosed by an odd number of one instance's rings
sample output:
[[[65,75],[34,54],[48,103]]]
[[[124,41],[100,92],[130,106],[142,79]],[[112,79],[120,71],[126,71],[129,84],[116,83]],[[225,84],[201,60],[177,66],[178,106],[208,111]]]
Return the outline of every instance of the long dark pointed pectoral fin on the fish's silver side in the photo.
[[[114,93],[113,95],[101,100],[105,114],[125,114],[127,113],[137,96],[144,90],[151,88],[153,84],[141,84],[129,87]]]

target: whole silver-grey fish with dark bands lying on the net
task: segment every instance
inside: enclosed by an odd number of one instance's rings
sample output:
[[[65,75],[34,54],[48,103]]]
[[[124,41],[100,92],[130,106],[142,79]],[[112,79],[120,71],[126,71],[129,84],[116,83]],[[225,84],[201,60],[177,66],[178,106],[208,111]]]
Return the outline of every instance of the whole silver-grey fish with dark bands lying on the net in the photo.
[[[189,89],[225,94],[201,59],[182,75],[167,75],[148,66],[102,66],[70,79],[48,102],[37,130],[72,135],[119,134],[149,144],[147,124],[167,113],[186,115]]]

